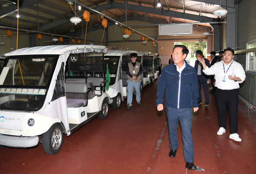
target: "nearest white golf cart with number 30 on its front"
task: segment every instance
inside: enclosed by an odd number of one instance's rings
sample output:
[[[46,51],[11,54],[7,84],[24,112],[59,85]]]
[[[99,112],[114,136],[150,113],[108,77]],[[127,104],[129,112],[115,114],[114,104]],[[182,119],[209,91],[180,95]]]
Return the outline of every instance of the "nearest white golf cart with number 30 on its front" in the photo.
[[[5,54],[0,74],[0,145],[27,148],[41,142],[46,154],[56,154],[63,133],[69,136],[96,116],[106,118],[110,97],[102,88],[107,81],[85,78],[87,56],[103,59],[106,51],[105,46],[60,45]],[[71,62],[78,57],[82,57],[82,76],[72,70],[77,66]]]

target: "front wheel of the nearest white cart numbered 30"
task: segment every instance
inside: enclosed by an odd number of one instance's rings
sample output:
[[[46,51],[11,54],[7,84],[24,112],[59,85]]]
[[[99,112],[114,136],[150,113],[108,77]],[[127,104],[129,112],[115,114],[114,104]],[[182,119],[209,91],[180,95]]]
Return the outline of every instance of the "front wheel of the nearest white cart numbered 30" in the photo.
[[[43,134],[42,145],[44,152],[54,155],[60,151],[63,143],[63,132],[60,124],[53,124],[50,129]]]

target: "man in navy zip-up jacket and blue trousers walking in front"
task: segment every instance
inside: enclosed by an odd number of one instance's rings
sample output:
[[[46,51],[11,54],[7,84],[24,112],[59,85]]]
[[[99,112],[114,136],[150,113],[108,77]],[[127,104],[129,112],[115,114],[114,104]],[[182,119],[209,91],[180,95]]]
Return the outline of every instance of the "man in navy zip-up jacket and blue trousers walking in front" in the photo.
[[[159,78],[157,87],[157,109],[164,109],[164,90],[165,108],[168,121],[170,153],[174,158],[178,148],[177,128],[180,120],[182,128],[183,152],[186,168],[196,170],[194,165],[194,147],[191,135],[192,129],[192,104],[194,112],[198,110],[198,82],[196,69],[188,65],[185,61],[188,49],[184,45],[175,45],[172,53],[174,63],[164,67]]]

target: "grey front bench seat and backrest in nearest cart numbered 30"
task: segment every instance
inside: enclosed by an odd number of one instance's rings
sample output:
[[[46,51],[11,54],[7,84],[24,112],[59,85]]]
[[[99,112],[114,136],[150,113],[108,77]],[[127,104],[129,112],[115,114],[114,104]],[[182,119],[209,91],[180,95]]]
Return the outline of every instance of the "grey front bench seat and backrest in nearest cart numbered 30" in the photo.
[[[86,94],[88,92],[88,85],[85,83],[66,83],[67,93],[81,93]],[[67,98],[68,108],[80,108],[86,105],[85,99],[73,99]]]

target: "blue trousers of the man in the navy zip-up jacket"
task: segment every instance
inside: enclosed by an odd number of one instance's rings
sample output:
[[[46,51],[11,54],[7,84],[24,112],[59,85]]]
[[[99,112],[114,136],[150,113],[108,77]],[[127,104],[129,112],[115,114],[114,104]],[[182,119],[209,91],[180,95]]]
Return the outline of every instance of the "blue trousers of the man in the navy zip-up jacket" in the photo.
[[[183,141],[183,153],[185,162],[194,163],[194,147],[193,139],[191,135],[192,129],[192,108],[171,108],[165,106],[166,116],[169,130],[169,141],[170,149],[177,150],[178,148],[178,137],[177,128],[178,120],[180,120],[182,130],[182,141]]]

